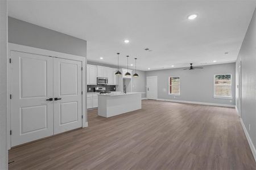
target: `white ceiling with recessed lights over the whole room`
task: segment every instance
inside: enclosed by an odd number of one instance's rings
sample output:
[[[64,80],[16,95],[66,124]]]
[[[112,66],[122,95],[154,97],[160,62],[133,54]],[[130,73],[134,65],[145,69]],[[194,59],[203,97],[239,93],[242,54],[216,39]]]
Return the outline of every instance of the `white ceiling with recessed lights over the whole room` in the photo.
[[[255,2],[9,1],[9,16],[87,40],[89,61],[116,65],[120,52],[123,66],[129,55],[139,70],[158,70],[234,62]]]

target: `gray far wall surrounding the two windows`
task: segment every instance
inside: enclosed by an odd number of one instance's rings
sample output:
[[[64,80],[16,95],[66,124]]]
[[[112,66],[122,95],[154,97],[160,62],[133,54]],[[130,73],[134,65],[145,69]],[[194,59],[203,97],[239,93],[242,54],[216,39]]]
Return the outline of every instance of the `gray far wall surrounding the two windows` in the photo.
[[[197,70],[183,70],[184,68],[179,68],[146,71],[146,76],[158,76],[158,99],[185,100],[204,103],[235,105],[235,63],[209,65],[203,67],[204,69]],[[232,74],[233,99],[213,98],[214,74]],[[180,96],[168,95],[169,76],[180,76]]]

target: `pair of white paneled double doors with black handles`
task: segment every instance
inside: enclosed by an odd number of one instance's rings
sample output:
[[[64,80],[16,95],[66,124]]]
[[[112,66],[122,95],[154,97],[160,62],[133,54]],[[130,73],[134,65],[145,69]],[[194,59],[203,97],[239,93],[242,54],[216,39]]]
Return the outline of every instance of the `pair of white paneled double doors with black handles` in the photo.
[[[11,52],[11,146],[82,126],[81,62]]]

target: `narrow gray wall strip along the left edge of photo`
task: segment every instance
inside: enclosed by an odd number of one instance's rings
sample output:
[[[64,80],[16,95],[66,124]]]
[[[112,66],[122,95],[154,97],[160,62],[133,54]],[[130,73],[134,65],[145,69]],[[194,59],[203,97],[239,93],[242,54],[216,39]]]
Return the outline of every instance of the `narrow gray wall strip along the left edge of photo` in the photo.
[[[0,169],[7,169],[7,1],[0,1]]]

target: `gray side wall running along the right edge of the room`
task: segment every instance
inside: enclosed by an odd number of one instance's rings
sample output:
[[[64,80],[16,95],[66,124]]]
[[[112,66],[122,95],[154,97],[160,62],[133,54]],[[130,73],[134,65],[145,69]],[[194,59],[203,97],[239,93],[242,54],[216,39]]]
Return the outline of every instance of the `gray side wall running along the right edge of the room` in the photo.
[[[256,146],[256,12],[247,29],[245,39],[238,54],[241,60],[241,118]],[[237,63],[238,67],[239,63]],[[238,69],[238,68],[237,68]],[[251,130],[249,130],[249,125]]]

